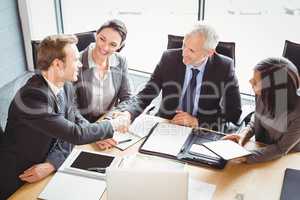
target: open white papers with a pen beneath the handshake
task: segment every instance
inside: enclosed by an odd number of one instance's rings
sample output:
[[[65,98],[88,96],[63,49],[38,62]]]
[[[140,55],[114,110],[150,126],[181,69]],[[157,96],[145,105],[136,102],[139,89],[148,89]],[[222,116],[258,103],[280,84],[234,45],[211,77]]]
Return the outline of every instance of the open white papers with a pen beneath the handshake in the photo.
[[[120,150],[127,149],[146,137],[155,124],[163,121],[166,119],[147,114],[140,115],[129,126],[127,133],[114,133],[113,139],[118,142],[116,147]]]

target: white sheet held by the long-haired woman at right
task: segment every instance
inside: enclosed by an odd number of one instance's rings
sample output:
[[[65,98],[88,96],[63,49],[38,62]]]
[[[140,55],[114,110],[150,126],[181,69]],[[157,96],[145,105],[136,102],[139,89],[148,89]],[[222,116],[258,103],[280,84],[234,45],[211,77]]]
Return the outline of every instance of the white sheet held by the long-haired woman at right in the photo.
[[[250,151],[231,140],[205,142],[202,145],[206,146],[225,160],[230,160],[233,158],[238,158],[251,154]]]

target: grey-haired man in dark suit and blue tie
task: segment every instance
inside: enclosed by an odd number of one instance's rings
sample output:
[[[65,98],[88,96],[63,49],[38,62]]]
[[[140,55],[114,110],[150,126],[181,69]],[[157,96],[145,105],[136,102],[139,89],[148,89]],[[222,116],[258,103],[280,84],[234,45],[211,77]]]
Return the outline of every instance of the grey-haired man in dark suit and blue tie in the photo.
[[[137,117],[162,92],[158,116],[172,123],[220,130],[236,122],[241,100],[233,60],[215,52],[218,36],[205,24],[185,35],[181,49],[167,50],[150,80],[123,111]]]

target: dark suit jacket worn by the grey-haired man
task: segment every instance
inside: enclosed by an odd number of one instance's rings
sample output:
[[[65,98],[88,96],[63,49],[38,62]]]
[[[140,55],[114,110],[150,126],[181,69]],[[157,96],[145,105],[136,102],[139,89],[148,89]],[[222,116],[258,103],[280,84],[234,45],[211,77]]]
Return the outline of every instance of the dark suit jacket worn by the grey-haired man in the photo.
[[[132,100],[127,110],[135,118],[162,92],[158,115],[171,119],[176,114],[184,84],[186,66],[182,50],[163,53],[149,82]],[[201,126],[220,129],[221,119],[236,122],[241,114],[241,99],[232,59],[214,54],[208,58],[202,79],[197,118]]]

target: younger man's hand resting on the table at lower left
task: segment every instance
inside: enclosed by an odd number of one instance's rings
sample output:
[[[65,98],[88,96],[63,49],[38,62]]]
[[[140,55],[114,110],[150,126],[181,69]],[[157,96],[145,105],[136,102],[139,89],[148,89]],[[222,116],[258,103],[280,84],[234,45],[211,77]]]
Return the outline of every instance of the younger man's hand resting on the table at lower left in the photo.
[[[28,183],[34,183],[36,181],[39,181],[52,172],[55,171],[55,167],[48,162],[36,164],[30,167],[29,169],[25,170],[23,174],[19,176],[19,178],[22,181],[28,182]]]

